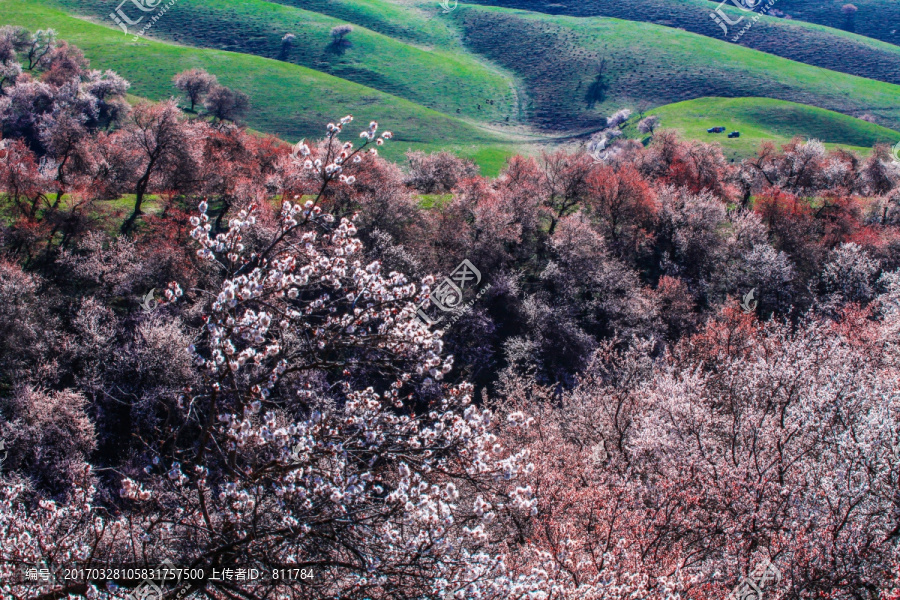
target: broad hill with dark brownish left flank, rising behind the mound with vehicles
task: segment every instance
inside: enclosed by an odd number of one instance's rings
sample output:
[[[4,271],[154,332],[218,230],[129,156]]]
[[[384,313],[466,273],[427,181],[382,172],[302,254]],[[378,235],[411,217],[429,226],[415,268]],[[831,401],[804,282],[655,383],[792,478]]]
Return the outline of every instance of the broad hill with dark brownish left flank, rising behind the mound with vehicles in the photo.
[[[769,97],[900,129],[900,86],[835,73],[668,27],[508,9],[454,11],[465,42],[515,71],[533,121],[588,130],[639,100],[658,106],[698,97]],[[605,61],[603,90],[598,65]]]

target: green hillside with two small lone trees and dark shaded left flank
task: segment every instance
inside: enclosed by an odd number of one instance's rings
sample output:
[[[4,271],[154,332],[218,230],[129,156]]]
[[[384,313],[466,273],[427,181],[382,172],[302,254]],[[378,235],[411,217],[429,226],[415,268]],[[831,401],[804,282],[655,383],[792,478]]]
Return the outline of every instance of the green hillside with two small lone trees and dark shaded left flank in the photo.
[[[112,25],[107,17],[109,7],[97,0],[37,3],[62,6]],[[132,18],[140,15],[130,4],[123,7],[126,14],[129,8]],[[155,23],[151,35],[193,46],[281,58],[446,114],[497,122],[515,116],[513,82],[471,55],[458,49],[423,49],[358,24],[347,38],[350,44],[339,47],[332,43],[330,31],[345,22],[264,0],[179,0]],[[293,33],[297,39],[292,49],[282,54],[281,38],[286,33]]]

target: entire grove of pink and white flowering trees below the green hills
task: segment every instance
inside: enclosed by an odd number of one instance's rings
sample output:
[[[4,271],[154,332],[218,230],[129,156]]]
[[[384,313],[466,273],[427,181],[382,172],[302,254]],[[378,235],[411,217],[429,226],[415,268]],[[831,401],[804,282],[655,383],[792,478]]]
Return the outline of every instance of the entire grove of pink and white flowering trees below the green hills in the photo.
[[[0,596],[900,597],[889,148],[623,110],[488,178],[175,84],[0,28]]]

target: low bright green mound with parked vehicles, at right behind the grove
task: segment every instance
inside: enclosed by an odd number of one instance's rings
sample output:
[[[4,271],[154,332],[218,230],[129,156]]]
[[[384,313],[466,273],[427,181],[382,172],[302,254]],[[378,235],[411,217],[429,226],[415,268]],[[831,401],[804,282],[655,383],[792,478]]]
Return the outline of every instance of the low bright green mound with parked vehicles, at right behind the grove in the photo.
[[[764,141],[787,143],[794,136],[815,138],[826,145],[841,146],[867,154],[875,144],[895,144],[900,132],[835,112],[771,100],[768,98],[700,98],[660,106],[648,114],[660,118],[660,127],[674,129],[682,137],[705,142],[718,142],[725,156],[740,160],[752,156]],[[636,130],[632,118],[625,134],[644,137]],[[741,137],[729,139],[726,134],[709,134],[710,127],[723,126],[727,131],[740,131]]]

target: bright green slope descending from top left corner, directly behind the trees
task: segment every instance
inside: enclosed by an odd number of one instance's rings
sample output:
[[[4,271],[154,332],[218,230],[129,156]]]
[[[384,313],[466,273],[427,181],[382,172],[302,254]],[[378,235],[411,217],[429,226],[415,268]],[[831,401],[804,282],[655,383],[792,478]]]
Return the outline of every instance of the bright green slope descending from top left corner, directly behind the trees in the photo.
[[[495,153],[506,150],[502,138],[466,122],[281,61],[152,40],[132,43],[119,30],[22,0],[0,0],[0,24],[32,30],[56,29],[61,38],[85,51],[94,68],[118,71],[131,81],[132,93],[151,100],[173,95],[171,80],[175,73],[192,67],[205,68],[216,74],[222,84],[250,96],[252,106],[247,123],[251,127],[288,141],[319,138],[328,121],[349,113],[361,127],[376,119],[383,128],[394,131],[394,141],[384,146],[384,154],[389,158],[400,158],[408,148],[447,148],[461,154],[474,154],[485,146],[498,148]],[[487,161],[486,167],[493,168],[495,162]]]

